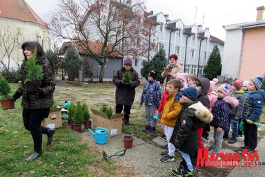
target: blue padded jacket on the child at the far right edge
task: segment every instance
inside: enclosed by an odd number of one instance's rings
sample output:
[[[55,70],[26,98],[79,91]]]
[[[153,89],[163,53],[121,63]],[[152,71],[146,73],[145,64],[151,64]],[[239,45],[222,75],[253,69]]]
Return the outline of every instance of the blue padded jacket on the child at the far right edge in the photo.
[[[249,93],[243,101],[242,115],[240,117],[244,119],[250,119],[254,122],[259,122],[264,100],[264,90]]]

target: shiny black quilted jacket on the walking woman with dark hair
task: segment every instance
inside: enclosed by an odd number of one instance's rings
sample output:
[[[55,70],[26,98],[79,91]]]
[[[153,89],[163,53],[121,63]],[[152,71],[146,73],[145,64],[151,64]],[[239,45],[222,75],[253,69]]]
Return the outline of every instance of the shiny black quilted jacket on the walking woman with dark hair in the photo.
[[[55,82],[53,80],[52,68],[46,57],[39,57],[37,63],[43,69],[43,80],[41,81],[41,92],[28,93],[23,87],[19,87],[15,94],[22,95],[21,106],[26,109],[46,109],[52,107],[52,93],[55,91]],[[24,85],[26,79],[26,60],[21,64],[20,70],[21,82]]]

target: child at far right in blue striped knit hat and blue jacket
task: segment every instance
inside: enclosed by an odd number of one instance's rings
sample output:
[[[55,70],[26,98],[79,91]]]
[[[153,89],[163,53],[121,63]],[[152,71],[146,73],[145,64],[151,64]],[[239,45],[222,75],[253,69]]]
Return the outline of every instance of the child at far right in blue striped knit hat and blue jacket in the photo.
[[[248,90],[251,93],[244,99],[241,116],[244,121],[244,147],[237,150],[237,153],[242,153],[244,149],[248,149],[248,152],[254,152],[257,147],[257,126],[253,123],[259,122],[262,114],[265,100],[265,91],[261,89],[263,79],[262,77],[254,77],[248,82]]]

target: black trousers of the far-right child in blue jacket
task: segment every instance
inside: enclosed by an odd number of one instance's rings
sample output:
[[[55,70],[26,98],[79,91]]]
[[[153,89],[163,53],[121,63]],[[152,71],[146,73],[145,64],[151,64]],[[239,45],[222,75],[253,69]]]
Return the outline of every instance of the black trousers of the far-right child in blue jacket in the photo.
[[[246,120],[244,120],[244,137],[245,147],[255,150],[257,147],[257,126],[248,124]]]

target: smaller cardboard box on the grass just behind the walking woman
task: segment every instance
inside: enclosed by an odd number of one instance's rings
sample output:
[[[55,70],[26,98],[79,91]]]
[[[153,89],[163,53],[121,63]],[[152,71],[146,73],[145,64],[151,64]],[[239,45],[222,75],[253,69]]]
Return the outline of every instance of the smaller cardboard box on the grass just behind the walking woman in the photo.
[[[43,119],[42,126],[49,127],[51,129],[55,129],[58,127],[62,127],[62,120],[61,120],[61,108],[52,108],[50,109],[50,113],[48,118]]]

